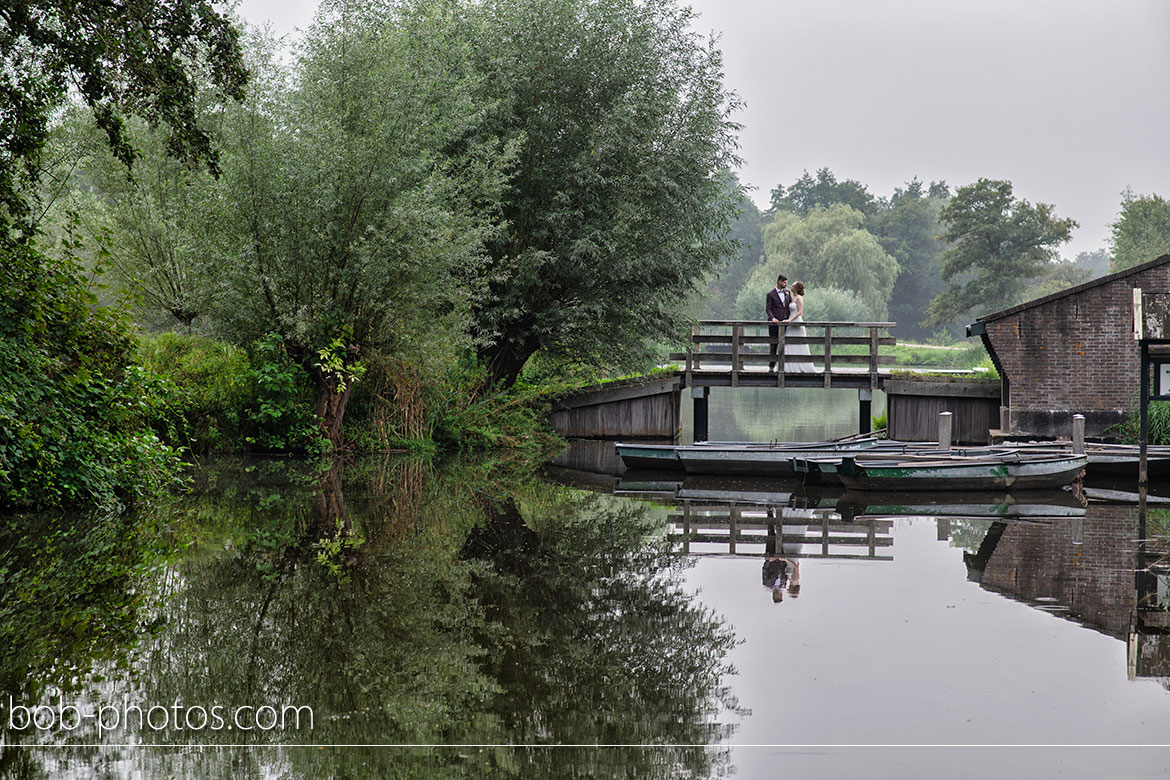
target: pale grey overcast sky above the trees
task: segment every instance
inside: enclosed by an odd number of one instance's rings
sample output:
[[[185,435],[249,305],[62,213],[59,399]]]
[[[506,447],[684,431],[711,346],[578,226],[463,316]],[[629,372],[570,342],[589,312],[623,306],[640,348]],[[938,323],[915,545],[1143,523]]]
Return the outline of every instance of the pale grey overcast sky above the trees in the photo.
[[[917,175],[1009,179],[1106,246],[1121,192],[1170,196],[1165,0],[694,0],[746,103],[739,178],[760,207],[828,167],[875,195]],[[307,27],[315,0],[243,0]]]

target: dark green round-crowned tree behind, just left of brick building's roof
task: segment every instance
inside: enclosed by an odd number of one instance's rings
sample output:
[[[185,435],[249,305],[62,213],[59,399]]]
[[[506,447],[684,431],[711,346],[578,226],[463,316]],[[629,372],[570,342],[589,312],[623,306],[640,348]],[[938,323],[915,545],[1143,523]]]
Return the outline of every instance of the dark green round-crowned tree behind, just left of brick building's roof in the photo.
[[[945,325],[975,308],[998,311],[1019,303],[1031,279],[1057,258],[1075,220],[1058,219],[1049,203],[1012,196],[1012,182],[979,179],[959,187],[938,212],[945,226],[943,290],[927,309],[931,325]]]

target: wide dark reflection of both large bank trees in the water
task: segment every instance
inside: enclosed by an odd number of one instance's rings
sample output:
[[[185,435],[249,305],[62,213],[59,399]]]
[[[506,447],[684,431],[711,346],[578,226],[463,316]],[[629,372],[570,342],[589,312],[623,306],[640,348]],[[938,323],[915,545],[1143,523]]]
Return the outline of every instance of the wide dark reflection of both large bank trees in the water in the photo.
[[[672,577],[679,559],[646,541],[652,523],[638,512],[529,490],[519,503],[525,523],[515,499],[483,498],[498,488],[472,491],[467,479],[453,485],[419,463],[356,464],[344,475],[345,495],[337,471],[287,479],[284,468],[269,462],[241,479],[228,471],[202,478],[205,492],[183,512],[201,541],[172,571],[165,627],[138,654],[132,678],[94,696],[309,705],[315,727],[136,731],[145,745],[271,747],[136,750],[123,767],[225,780],[525,776],[534,767],[569,776],[708,774],[711,757],[701,747],[281,748],[710,745],[724,733],[717,707],[734,706],[720,688],[732,640],[680,593]],[[340,511],[363,541],[338,571],[318,552]],[[82,778],[102,760],[78,753],[71,766],[46,767]],[[569,766],[578,761],[584,768],[574,774]]]

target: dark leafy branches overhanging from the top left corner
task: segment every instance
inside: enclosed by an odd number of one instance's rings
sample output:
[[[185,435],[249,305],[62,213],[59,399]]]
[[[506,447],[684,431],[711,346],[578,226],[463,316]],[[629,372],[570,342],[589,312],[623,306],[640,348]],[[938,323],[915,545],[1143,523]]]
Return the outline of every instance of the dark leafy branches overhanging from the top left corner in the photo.
[[[197,120],[197,83],[240,99],[247,82],[235,28],[211,0],[15,0],[0,6],[0,234],[33,229],[29,187],[54,111],[70,89],[128,166],[126,115],[165,125],[179,159],[216,166]]]

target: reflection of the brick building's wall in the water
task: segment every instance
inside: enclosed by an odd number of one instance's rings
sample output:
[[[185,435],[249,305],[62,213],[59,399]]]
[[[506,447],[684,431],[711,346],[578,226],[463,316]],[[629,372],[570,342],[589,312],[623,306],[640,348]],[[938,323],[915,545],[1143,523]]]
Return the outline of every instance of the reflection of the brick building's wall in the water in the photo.
[[[1137,509],[1090,504],[1083,518],[992,523],[972,579],[989,591],[1126,639],[1137,599]]]

